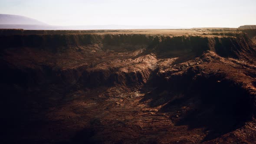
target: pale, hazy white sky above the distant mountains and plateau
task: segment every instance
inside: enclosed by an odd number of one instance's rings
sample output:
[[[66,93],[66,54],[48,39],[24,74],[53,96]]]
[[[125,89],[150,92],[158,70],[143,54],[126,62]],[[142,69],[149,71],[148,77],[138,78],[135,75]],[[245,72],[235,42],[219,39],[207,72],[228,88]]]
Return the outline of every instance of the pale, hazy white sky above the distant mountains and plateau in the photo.
[[[256,24],[256,0],[0,0],[0,13],[60,26],[238,27]]]

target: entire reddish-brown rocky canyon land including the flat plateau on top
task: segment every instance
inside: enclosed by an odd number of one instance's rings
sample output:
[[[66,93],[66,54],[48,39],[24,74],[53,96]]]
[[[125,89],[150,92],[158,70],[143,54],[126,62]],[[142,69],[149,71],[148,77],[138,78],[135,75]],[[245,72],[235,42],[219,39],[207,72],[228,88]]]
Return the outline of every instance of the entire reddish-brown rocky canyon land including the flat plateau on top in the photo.
[[[0,29],[5,144],[253,144],[256,29]]]

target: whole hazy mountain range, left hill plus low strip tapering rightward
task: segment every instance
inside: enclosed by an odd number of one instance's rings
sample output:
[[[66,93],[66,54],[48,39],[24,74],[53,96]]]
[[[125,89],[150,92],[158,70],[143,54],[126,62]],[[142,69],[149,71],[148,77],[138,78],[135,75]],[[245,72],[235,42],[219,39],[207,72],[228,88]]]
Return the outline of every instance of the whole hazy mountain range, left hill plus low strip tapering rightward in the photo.
[[[34,30],[86,30],[86,29],[185,29],[178,26],[128,26],[128,25],[86,25],[86,26],[52,26],[25,16],[0,14],[0,29],[34,29]]]

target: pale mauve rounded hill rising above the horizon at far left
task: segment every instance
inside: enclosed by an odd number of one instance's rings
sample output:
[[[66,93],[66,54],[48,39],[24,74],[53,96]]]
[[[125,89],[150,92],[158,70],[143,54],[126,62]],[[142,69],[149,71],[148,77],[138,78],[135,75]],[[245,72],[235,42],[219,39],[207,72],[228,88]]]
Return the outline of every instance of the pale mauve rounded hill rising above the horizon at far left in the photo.
[[[25,16],[11,15],[11,14],[0,14],[0,24],[3,25],[16,25],[16,24],[30,24],[30,25],[47,25],[46,23],[40,22],[39,20],[31,19]]]

